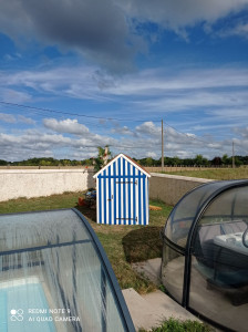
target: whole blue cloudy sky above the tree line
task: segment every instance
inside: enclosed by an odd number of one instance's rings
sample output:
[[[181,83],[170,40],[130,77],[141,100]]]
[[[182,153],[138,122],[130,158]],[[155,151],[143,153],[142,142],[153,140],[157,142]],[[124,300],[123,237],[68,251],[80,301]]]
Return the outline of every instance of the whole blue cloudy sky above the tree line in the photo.
[[[248,0],[0,8],[0,159],[248,155]]]

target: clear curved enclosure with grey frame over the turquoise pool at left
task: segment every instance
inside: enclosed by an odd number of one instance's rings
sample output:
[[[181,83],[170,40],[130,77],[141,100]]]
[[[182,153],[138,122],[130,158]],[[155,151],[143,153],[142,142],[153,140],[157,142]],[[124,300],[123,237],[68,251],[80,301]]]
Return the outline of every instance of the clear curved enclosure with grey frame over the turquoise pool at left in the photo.
[[[76,209],[0,215],[0,331],[135,331]]]

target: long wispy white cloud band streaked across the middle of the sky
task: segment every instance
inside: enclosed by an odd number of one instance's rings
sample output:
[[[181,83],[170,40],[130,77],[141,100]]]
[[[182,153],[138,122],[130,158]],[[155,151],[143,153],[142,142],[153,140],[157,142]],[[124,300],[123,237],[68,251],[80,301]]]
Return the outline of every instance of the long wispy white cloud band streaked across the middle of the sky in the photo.
[[[113,84],[99,87],[104,76],[95,76],[95,68],[60,68],[49,71],[2,72],[1,91],[32,87],[40,95],[122,102],[144,111],[175,112],[193,107],[242,107],[248,102],[248,70],[223,68],[215,70],[175,71],[144,70],[116,77]],[[230,91],[231,90],[231,91]],[[128,96],[128,100],[126,98]],[[7,97],[7,96],[6,96]],[[9,95],[9,102],[18,102]],[[133,105],[133,106],[132,106]],[[130,114],[127,114],[130,116]]]

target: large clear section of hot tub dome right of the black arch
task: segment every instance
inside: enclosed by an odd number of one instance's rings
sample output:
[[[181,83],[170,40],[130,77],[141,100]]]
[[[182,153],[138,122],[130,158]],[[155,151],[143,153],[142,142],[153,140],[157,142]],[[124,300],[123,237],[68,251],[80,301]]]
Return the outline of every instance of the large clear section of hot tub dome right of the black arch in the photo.
[[[247,194],[248,187],[220,194],[199,220],[193,242],[189,307],[235,331],[247,331]]]

